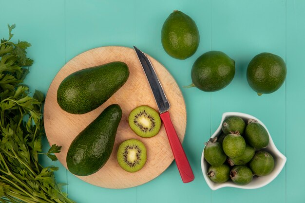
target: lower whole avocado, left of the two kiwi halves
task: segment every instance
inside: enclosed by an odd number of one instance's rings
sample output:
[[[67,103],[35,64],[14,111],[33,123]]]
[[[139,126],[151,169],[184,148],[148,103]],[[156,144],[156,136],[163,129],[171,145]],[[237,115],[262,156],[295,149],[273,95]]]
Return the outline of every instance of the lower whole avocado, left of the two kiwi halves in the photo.
[[[120,106],[110,105],[76,136],[66,159],[71,173],[78,176],[91,175],[106,164],[114,147],[121,118]]]

